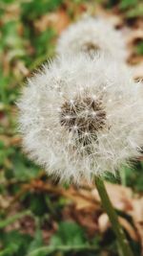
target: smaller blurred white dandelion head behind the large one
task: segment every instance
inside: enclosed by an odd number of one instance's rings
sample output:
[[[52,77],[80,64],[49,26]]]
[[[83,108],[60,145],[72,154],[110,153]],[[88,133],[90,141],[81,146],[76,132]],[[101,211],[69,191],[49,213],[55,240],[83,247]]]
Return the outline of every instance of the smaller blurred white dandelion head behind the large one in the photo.
[[[104,51],[113,58],[123,60],[127,57],[123,35],[115,31],[112,24],[102,18],[86,17],[77,21],[60,35],[57,53],[93,54]]]

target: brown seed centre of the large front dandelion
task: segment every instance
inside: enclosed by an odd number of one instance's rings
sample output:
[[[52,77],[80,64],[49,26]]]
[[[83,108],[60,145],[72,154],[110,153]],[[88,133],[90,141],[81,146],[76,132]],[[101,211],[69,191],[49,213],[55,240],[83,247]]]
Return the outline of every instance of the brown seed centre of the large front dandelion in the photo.
[[[79,135],[95,135],[106,124],[106,112],[101,100],[92,97],[76,98],[61,106],[61,126]]]

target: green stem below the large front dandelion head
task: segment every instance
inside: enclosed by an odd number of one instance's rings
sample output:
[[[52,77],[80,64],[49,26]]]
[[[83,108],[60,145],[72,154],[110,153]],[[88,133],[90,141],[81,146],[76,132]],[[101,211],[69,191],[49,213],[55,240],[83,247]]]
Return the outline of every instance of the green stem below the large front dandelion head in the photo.
[[[130,244],[128,243],[126,235],[124,233],[124,230],[122,229],[122,227],[118,221],[115,210],[112,207],[112,202],[107,194],[104,182],[102,181],[101,178],[96,177],[95,184],[96,184],[96,188],[98,190],[99,196],[101,198],[102,205],[103,205],[105,211],[107,212],[108,217],[112,223],[112,229],[113,229],[114,234],[116,235],[122,255],[123,256],[133,256],[133,252],[130,247]]]

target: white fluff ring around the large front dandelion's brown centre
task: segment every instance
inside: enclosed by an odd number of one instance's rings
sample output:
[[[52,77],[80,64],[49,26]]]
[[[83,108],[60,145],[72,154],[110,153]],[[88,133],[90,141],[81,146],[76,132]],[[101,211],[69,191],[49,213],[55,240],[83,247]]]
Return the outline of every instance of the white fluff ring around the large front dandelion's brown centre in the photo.
[[[115,174],[140,155],[143,105],[138,87],[124,65],[104,56],[56,58],[28,81],[18,102],[24,150],[61,180],[91,182],[93,175]],[[101,100],[106,125],[95,133],[80,132],[79,139],[75,127],[61,125],[61,109],[65,102],[74,106],[76,98],[80,106],[85,97]],[[87,110],[75,118],[85,118]]]

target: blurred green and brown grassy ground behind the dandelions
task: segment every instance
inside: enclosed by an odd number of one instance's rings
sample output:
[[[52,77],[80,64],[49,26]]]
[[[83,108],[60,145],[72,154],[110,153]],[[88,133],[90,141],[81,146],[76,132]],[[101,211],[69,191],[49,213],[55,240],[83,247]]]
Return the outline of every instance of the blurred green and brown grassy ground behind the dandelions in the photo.
[[[16,125],[26,78],[54,57],[58,36],[84,13],[122,31],[134,80],[143,79],[141,0],[0,0],[0,256],[118,255],[96,189],[51,182],[23,153]],[[106,178],[134,256],[143,245],[142,172],[139,159],[121,178]]]

